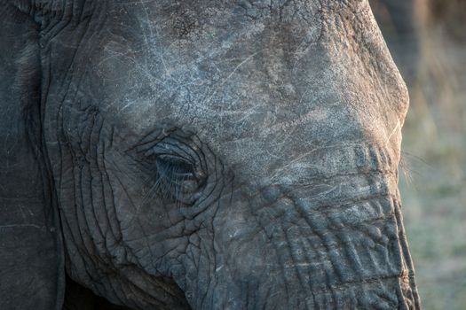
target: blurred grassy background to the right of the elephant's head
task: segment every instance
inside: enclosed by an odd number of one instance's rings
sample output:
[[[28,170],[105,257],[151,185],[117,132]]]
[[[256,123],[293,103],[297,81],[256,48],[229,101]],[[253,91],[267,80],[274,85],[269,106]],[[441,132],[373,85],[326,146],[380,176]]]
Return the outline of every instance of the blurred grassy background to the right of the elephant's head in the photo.
[[[466,0],[369,0],[410,91],[399,185],[424,309],[466,309]]]

